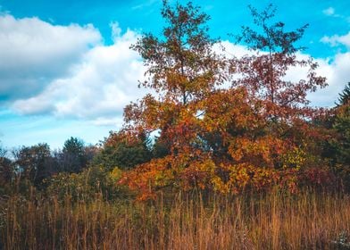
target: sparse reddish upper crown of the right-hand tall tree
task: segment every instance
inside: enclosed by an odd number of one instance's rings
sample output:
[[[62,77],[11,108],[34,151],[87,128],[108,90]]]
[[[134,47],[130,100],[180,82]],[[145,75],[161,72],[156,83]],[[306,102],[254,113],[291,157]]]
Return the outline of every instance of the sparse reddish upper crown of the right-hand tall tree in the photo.
[[[250,96],[262,100],[266,115],[273,121],[287,119],[293,115],[303,115],[309,101],[307,93],[317,87],[325,87],[325,78],[317,76],[318,64],[312,58],[299,58],[298,52],[304,47],[296,43],[304,35],[307,24],[294,31],[285,31],[283,22],[271,23],[276,9],[269,5],[262,12],[249,6],[256,29],[243,26],[237,42],[245,44],[252,52],[242,58],[233,60],[234,70],[242,75],[234,84],[244,85]],[[255,30],[261,30],[259,33]],[[293,67],[306,67],[306,78],[292,81],[286,79],[287,71]]]

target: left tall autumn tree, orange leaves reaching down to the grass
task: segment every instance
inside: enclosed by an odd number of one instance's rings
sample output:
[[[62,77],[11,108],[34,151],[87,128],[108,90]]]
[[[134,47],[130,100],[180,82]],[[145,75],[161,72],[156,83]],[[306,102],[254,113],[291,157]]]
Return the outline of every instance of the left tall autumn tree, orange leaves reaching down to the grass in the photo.
[[[208,15],[191,3],[172,7],[163,1],[162,17],[166,21],[162,37],[145,34],[132,46],[147,67],[148,79],[141,85],[154,89],[157,96],[147,95],[124,112],[126,130],[158,132],[158,146],[165,148],[163,157],[125,177],[130,187],[145,193],[150,184],[177,186],[188,179],[187,173],[196,181],[190,168],[195,170],[210,154],[202,137],[204,103],[225,79],[225,63],[213,52],[216,41],[208,35]]]

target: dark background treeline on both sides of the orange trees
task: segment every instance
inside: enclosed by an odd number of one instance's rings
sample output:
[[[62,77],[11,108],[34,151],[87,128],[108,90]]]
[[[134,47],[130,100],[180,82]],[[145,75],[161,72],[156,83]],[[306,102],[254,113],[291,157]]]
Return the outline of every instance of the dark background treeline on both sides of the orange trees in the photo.
[[[310,172],[310,181],[327,187],[340,187],[350,191],[350,83],[339,94],[336,107],[327,115],[310,121],[327,137],[319,141],[318,161],[327,162],[321,171]],[[106,192],[117,193],[122,172],[135,169],[138,165],[169,155],[171,148],[159,137],[129,137],[125,131],[111,132],[99,146],[86,146],[77,138],[67,139],[62,150],[50,150],[45,144],[21,146],[10,150],[0,148],[0,192],[1,195],[25,194],[29,187],[37,190],[49,189],[62,196],[75,196],[87,186],[94,187],[93,196],[100,187]],[[303,155],[300,155],[303,157]],[[317,161],[316,158],[312,159]],[[298,159],[293,159],[295,164]],[[303,178],[302,176],[299,176]],[[323,181],[326,181],[323,183]],[[308,184],[308,183],[306,183]],[[311,182],[309,184],[312,184]],[[330,185],[330,186],[329,186]],[[108,186],[108,187],[107,187]],[[66,187],[66,188],[64,188]],[[78,188],[78,189],[77,189]],[[121,188],[121,187],[119,187]],[[123,189],[124,192],[126,189]],[[125,194],[108,194],[118,196]],[[87,197],[87,194],[85,195]]]

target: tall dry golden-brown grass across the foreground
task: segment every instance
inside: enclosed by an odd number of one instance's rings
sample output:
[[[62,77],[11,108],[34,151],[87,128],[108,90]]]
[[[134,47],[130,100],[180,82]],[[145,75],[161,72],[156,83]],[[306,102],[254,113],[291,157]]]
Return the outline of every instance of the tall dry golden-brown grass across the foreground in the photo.
[[[350,232],[350,197],[312,191],[3,206],[4,249],[347,249]]]

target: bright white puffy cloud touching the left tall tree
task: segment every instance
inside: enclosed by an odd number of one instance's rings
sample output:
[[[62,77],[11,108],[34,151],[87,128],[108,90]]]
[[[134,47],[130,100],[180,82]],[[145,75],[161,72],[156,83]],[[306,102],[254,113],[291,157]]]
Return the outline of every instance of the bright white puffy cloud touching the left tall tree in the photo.
[[[112,46],[95,46],[71,67],[71,75],[54,79],[37,96],[17,100],[12,108],[23,114],[52,113],[57,117],[78,117],[96,125],[116,124],[125,104],[145,95],[137,87],[144,67],[139,55],[129,46],[137,33],[121,34],[112,24]]]

